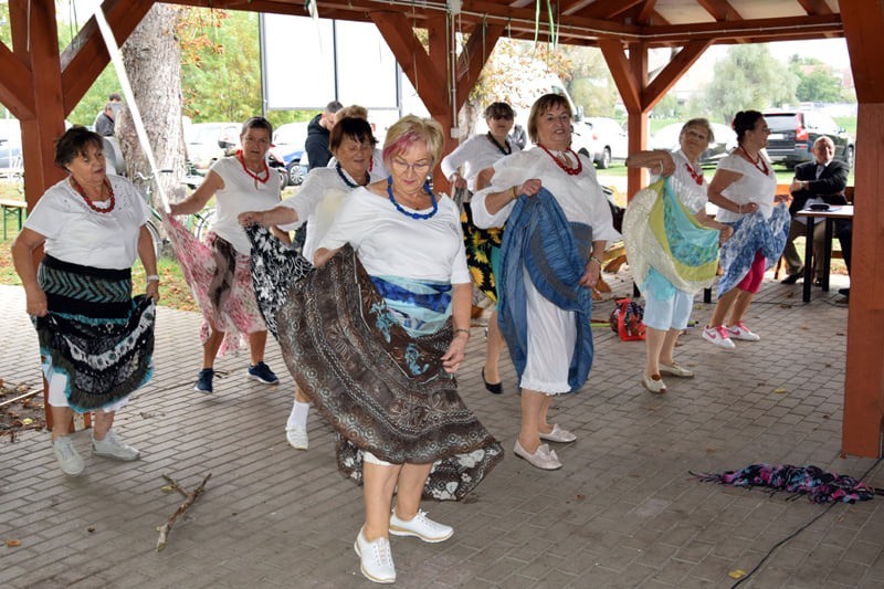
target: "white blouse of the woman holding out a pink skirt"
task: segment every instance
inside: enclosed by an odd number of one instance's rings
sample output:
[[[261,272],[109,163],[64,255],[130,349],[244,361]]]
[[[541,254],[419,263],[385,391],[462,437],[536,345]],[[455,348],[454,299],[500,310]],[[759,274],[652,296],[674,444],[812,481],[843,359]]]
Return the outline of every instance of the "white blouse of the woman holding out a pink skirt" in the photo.
[[[256,181],[235,157],[219,159],[210,171],[224,181],[224,188],[214,193],[217,214],[212,231],[229,241],[236,253],[249,255],[252,244],[236,217],[245,211],[266,211],[280,203],[278,172],[267,168],[267,181]]]

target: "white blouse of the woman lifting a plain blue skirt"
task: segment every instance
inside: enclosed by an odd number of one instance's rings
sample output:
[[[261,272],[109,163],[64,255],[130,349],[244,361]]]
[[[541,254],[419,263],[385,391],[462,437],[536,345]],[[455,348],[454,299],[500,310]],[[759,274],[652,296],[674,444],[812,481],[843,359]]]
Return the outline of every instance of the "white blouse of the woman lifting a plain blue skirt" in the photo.
[[[583,156],[578,156],[583,169],[577,176],[566,173],[541,148],[534,147],[497,160],[494,178],[484,190],[473,196],[473,221],[478,228],[501,227],[509,218],[515,201],[507,203],[495,214],[485,208],[485,199],[492,192],[508,190],[525,180],[539,178],[549,190],[570,222],[585,223],[592,228],[592,241],[615,241],[620,233],[613,228],[611,208],[598,180],[596,168]]]

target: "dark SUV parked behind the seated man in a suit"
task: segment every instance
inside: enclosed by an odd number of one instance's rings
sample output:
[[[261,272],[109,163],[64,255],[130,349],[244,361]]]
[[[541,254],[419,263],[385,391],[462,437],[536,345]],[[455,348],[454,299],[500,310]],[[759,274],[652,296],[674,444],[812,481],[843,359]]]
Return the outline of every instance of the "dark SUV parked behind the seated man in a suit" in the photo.
[[[770,111],[764,115],[770,127],[767,156],[774,164],[792,169],[813,160],[813,141],[827,136],[835,144],[835,159],[853,167],[856,152],[853,139],[829,115],[817,111]]]

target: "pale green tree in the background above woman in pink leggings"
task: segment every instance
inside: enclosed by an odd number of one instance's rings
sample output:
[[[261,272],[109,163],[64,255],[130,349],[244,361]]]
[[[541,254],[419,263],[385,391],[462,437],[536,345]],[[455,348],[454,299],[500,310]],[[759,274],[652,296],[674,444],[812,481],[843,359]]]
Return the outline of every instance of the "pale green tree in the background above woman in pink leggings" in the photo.
[[[711,120],[729,123],[739,111],[793,103],[798,76],[766,44],[735,45],[715,64],[701,104]]]

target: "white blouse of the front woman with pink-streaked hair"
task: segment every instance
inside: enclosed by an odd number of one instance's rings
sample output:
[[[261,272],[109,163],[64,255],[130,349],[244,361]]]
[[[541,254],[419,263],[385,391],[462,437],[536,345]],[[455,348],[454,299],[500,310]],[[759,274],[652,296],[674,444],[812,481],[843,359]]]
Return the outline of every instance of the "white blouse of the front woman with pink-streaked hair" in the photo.
[[[460,210],[444,194],[438,196],[438,206],[433,217],[412,219],[388,199],[357,188],[318,246],[336,250],[349,243],[372,276],[469,283]],[[431,210],[402,208],[419,213]]]

